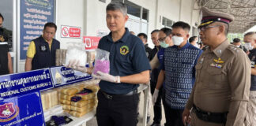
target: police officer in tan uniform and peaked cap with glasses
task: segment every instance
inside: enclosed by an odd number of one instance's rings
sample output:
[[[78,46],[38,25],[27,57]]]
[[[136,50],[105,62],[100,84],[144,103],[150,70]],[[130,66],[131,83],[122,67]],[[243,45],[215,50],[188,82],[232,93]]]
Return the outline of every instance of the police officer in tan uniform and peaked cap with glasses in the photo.
[[[250,92],[250,60],[243,50],[228,42],[228,24],[234,17],[205,7],[201,11],[200,38],[209,48],[198,59],[183,123],[243,126]]]

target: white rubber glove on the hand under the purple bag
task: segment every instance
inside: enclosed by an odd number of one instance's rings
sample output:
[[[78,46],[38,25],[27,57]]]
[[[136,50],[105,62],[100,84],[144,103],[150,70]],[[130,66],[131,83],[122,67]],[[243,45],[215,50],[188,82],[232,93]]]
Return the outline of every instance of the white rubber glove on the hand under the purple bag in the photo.
[[[97,74],[99,76],[96,76],[96,75],[92,75],[92,76],[100,80],[105,80],[113,83],[120,83],[120,76],[111,76],[110,74],[100,72],[100,71],[98,71]]]

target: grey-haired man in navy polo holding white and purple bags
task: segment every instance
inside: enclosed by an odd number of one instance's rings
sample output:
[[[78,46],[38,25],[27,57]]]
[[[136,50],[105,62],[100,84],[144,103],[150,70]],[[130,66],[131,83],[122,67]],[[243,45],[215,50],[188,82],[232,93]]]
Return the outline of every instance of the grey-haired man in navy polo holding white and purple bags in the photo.
[[[107,5],[109,35],[100,39],[98,48],[110,52],[110,72],[98,72],[101,79],[96,118],[99,126],[135,126],[138,83],[149,82],[149,60],[141,39],[125,28],[127,8],[122,2]],[[122,51],[122,49],[125,49]],[[90,73],[92,69],[70,61],[67,67]]]

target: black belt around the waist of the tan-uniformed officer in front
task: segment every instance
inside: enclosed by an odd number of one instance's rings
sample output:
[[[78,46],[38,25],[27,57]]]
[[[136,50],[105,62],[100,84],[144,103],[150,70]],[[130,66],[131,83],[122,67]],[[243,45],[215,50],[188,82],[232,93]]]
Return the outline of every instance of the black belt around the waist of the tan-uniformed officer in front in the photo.
[[[226,124],[228,112],[225,113],[211,113],[201,110],[197,106],[193,105],[192,111],[197,115],[197,117],[201,120],[205,120],[207,122],[212,122],[216,124]]]

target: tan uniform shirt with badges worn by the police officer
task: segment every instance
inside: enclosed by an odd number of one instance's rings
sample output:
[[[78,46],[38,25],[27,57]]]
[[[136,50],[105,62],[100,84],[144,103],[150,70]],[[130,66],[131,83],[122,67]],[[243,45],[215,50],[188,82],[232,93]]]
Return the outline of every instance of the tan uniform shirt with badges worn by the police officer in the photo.
[[[215,50],[208,48],[199,57],[196,81],[186,108],[191,109],[194,104],[206,112],[228,112],[226,126],[240,126],[247,112],[249,88],[249,58],[225,40]]]

